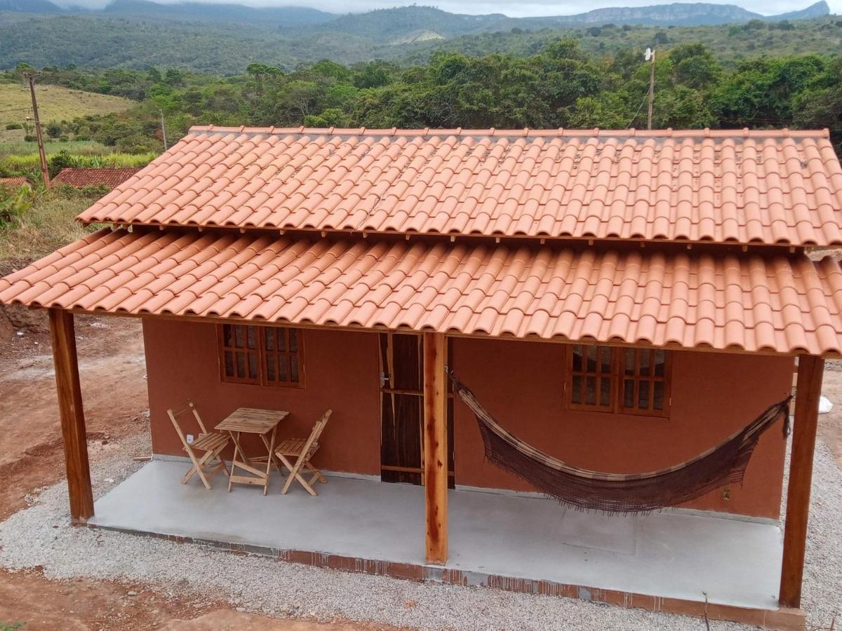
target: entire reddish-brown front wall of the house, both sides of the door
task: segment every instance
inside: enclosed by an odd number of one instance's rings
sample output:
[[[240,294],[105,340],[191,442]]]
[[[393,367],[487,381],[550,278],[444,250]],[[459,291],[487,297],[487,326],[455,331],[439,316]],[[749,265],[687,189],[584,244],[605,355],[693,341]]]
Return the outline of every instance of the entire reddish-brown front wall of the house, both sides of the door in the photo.
[[[328,407],[333,416],[317,460],[325,469],[380,473],[377,336],[304,331],[303,389],[220,382],[215,325],[144,321],[152,448],[183,455],[166,415],[195,400],[206,425],[239,406],[291,412],[283,436],[306,436]],[[562,345],[456,338],[453,366],[494,416],[519,437],[571,464],[618,473],[660,469],[718,443],[789,391],[791,358],[677,352],[669,419],[568,411],[562,405]],[[761,438],[743,486],[687,506],[778,517],[785,443],[777,426]],[[485,462],[473,417],[456,405],[456,484],[530,490]]]

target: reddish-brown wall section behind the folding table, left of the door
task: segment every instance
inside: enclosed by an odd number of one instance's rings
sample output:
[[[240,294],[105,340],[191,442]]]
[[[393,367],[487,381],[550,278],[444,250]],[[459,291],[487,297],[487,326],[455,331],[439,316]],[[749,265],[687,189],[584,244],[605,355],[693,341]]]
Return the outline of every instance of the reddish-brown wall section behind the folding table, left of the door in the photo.
[[[221,383],[214,324],[147,319],[143,337],[154,453],[184,455],[167,409],[186,399],[209,429],[238,407],[290,411],[279,437],[306,437],[331,408],[319,461],[326,469],[380,475],[376,335],[304,331],[303,388]]]

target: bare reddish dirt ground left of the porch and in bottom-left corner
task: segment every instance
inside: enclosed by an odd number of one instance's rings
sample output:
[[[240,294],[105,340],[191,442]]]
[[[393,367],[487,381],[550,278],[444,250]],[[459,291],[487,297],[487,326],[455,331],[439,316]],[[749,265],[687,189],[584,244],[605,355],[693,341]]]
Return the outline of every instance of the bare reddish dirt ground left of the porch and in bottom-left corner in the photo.
[[[91,460],[115,440],[148,432],[140,321],[77,316],[77,351]],[[0,305],[0,521],[25,497],[64,475],[55,373],[45,313]],[[146,455],[146,454],[137,454]],[[88,631],[350,631],[351,623],[275,620],[232,611],[220,598],[164,592],[115,581],[51,581],[36,570],[0,570],[0,628]]]

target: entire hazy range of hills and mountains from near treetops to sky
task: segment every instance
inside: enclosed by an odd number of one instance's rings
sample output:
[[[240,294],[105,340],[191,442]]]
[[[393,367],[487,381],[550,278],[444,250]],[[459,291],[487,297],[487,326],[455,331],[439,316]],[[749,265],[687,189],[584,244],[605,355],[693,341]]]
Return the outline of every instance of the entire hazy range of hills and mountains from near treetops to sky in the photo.
[[[702,43],[729,63],[842,50],[842,19],[827,17],[824,2],[776,16],[734,5],[675,3],[509,18],[418,5],[338,15],[305,7],[250,8],[207,0],[114,0],[99,10],[67,8],[73,1],[56,0],[64,2],[57,5],[51,0],[0,0],[0,69],[25,61],[38,67],[160,66],[237,74],[253,62],[285,69],[321,59],[418,64],[440,51],[532,55],[562,35],[600,56],[651,45]]]

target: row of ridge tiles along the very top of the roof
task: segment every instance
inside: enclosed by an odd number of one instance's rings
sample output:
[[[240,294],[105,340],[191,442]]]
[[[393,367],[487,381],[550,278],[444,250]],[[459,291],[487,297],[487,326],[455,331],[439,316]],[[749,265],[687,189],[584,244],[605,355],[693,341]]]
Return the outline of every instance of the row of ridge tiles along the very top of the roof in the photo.
[[[418,130],[392,129],[370,130],[366,127],[339,128],[339,127],[217,127],[216,125],[194,125],[190,127],[189,133],[195,132],[220,132],[234,134],[266,134],[266,135],[290,135],[290,134],[316,134],[316,135],[371,135],[371,136],[498,136],[498,137],[519,137],[519,138],[829,138],[830,130],[790,130],[783,128],[779,130],[749,130],[745,127],[741,130],[711,130],[706,127],[703,130],[674,130],[671,127],[665,130],[603,130],[594,127],[592,130],[570,130],[563,127],[552,130],[533,130],[525,127],[521,130],[498,130],[493,127],[487,130],[466,130],[461,127],[450,130],[431,129],[426,127]]]

